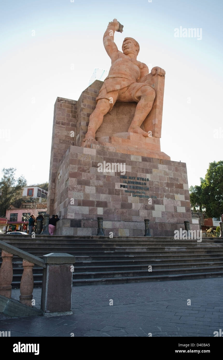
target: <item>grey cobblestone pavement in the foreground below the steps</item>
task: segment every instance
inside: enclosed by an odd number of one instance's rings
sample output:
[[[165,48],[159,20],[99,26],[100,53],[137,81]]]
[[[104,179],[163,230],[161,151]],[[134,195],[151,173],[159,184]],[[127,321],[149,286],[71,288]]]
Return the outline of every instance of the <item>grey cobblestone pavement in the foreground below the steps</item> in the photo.
[[[213,337],[223,328],[222,282],[211,278],[73,287],[73,315],[0,315],[0,331],[10,331],[11,337]],[[40,307],[41,289],[33,294]],[[19,299],[19,289],[12,297]]]

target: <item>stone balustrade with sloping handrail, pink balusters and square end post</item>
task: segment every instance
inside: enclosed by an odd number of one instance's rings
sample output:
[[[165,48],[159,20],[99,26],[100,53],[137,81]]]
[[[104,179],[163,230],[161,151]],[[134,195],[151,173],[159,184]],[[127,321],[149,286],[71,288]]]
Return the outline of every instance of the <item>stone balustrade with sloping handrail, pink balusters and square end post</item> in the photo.
[[[32,292],[34,279],[32,269],[34,264],[43,267],[43,286],[41,294],[41,315],[57,316],[71,315],[72,306],[72,264],[75,257],[67,253],[50,253],[41,258],[31,255],[4,241],[0,241],[1,257],[3,259],[0,268],[0,311],[9,316],[33,315],[30,311],[32,306]],[[23,259],[23,274],[20,283],[19,302],[16,304],[11,298],[13,279],[13,255]],[[10,300],[8,300],[8,299]],[[11,304],[7,308],[7,303]],[[22,305],[20,305],[21,303]],[[18,307],[18,305],[20,307]],[[24,305],[28,306],[24,309]],[[22,308],[21,308],[22,306]],[[28,310],[27,310],[28,309]],[[34,311],[34,310],[32,310]],[[40,315],[40,314],[38,314]]]

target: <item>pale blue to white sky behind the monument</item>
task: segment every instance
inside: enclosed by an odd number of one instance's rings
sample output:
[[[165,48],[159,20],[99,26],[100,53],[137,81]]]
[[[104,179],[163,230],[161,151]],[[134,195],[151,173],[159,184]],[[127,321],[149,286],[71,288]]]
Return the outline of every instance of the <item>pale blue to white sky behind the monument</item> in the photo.
[[[223,1],[5,0],[0,13],[0,170],[49,180],[55,100],[77,100],[95,68],[109,70],[102,38],[113,18],[124,25],[119,50],[133,37],[138,60],[166,71],[161,150],[187,163],[189,186],[223,160]],[[197,37],[175,37],[180,27]]]

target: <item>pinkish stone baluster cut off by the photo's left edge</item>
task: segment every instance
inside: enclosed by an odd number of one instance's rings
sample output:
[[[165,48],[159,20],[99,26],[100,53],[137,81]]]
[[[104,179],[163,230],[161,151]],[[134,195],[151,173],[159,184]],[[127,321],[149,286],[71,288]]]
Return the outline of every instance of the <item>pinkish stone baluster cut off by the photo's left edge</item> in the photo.
[[[2,250],[1,251],[2,264],[0,268],[0,295],[10,299],[12,292],[12,278],[13,267],[12,258],[13,254]]]

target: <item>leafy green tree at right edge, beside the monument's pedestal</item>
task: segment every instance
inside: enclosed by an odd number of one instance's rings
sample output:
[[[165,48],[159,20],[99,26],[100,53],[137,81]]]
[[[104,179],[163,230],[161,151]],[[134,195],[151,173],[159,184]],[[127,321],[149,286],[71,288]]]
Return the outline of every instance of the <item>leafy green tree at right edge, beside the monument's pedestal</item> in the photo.
[[[205,178],[200,185],[191,186],[191,204],[206,206],[208,217],[219,217],[223,213],[223,161],[209,163]]]

